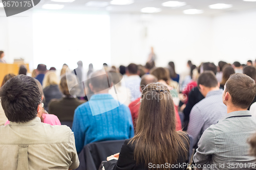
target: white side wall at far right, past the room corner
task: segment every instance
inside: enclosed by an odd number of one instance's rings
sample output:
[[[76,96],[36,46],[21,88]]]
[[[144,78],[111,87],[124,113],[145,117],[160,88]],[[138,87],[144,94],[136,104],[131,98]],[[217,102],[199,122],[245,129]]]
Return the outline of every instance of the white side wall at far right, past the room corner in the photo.
[[[256,11],[230,13],[213,19],[212,54],[215,61],[256,59]]]

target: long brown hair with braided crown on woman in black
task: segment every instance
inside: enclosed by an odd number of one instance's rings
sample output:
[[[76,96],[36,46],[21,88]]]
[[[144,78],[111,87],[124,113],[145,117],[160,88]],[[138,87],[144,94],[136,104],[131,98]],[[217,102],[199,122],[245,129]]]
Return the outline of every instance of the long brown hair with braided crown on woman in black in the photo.
[[[183,135],[176,131],[174,103],[167,86],[148,84],[142,91],[136,135],[131,140],[135,142],[137,164],[174,164],[179,156],[185,160],[187,149]]]

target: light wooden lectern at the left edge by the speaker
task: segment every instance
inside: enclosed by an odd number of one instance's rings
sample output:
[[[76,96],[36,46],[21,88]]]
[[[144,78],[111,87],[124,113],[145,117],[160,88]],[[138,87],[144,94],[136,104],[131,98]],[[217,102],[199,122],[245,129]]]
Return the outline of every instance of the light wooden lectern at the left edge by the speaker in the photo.
[[[2,85],[3,79],[5,75],[7,74],[14,74],[18,75],[18,70],[20,65],[24,65],[27,68],[27,72],[29,72],[29,64],[22,64],[22,63],[16,63],[16,64],[4,64],[0,63],[0,86]]]

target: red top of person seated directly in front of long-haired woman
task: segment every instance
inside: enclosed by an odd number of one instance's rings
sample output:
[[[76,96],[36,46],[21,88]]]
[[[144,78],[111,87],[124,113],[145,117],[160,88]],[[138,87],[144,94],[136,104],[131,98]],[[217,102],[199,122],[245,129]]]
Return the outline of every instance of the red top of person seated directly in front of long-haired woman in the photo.
[[[138,98],[136,99],[135,101],[133,101],[132,103],[130,103],[129,105],[129,108],[131,110],[131,113],[132,113],[132,118],[133,118],[133,125],[134,125],[134,128],[135,128],[135,125],[136,125],[136,120],[138,118],[138,113],[139,113],[139,108],[140,108],[140,99],[141,98]],[[175,105],[174,105],[175,106]],[[178,107],[175,106],[175,114],[176,114],[176,118],[177,118],[177,122],[176,122],[176,130],[177,131],[180,131],[182,130],[181,128],[181,121],[180,121],[180,116],[179,116],[179,113],[178,113]]]

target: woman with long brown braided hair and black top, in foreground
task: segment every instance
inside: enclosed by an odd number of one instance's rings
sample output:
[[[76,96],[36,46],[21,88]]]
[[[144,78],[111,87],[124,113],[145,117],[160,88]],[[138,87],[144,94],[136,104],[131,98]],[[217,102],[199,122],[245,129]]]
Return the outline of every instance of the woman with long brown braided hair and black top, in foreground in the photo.
[[[135,136],[125,140],[120,154],[108,157],[107,163],[116,162],[115,170],[185,169],[177,165],[188,162],[188,150],[188,135],[176,131],[174,103],[167,86],[151,83],[142,91]]]

